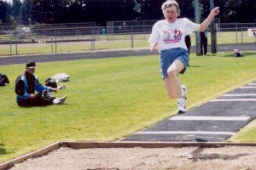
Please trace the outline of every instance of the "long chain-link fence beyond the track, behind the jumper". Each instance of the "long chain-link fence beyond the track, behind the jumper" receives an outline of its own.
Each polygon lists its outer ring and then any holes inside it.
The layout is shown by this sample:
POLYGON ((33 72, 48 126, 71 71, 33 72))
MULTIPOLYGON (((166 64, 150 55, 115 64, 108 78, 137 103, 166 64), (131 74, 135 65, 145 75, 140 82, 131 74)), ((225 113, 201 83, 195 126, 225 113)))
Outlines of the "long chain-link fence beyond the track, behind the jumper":
MULTIPOLYGON (((0 30, 0 55, 53 54, 103 49, 148 48, 148 38, 156 20, 108 22, 107 26, 95 23, 7 26, 0 30)), ((218 23, 217 42, 255 43, 247 30, 256 28, 256 23, 218 23)), ((211 31, 207 30, 208 44, 211 31)), ((195 33, 191 35, 195 45, 195 33)), ((255 48, 256 49, 256 48, 255 48)))

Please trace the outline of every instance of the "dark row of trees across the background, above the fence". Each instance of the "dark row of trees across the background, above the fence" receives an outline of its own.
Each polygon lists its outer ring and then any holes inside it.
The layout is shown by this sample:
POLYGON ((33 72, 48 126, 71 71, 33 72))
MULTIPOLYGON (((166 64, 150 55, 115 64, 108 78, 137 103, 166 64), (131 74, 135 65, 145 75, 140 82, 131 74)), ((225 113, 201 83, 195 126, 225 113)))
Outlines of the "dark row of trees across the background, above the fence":
MULTIPOLYGON (((2 23, 96 22, 105 26, 113 20, 160 20, 161 4, 166 0, 0 0, 2 23), (21 3, 22 2, 22 3, 21 3), (21 8, 21 12, 20 12, 21 8)), ((194 19, 194 1, 178 0, 181 17, 194 19)), ((255 0, 214 0, 221 22, 255 22, 255 0), (246 17, 244 17, 246 16, 246 17)), ((201 18, 210 13, 209 0, 200 0, 201 18)))

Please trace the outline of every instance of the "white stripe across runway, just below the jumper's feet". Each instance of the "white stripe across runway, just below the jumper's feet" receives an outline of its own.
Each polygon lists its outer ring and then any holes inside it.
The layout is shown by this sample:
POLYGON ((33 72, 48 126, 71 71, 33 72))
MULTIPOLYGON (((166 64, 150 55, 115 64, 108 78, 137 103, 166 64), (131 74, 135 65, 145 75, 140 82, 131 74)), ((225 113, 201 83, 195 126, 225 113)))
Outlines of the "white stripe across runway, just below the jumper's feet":
POLYGON ((173 116, 172 121, 247 121, 250 116, 173 116))

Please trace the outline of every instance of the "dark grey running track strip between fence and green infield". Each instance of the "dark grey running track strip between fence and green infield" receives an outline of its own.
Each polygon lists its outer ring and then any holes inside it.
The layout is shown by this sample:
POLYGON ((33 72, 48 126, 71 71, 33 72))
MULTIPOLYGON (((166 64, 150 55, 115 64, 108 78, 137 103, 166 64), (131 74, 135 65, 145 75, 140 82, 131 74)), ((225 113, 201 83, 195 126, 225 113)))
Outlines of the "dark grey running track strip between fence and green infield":
MULTIPOLYGON (((219 44, 218 52, 233 51, 238 48, 241 51, 256 50, 256 43, 243 43, 243 44, 219 44)), ((195 53, 195 46, 190 49, 191 53, 195 53)), ((208 53, 211 53, 211 47, 208 46, 208 53)), ((74 52, 63 54, 32 54, 32 55, 15 55, 15 56, 0 56, 0 65, 15 65, 25 64, 27 61, 35 62, 51 62, 61 60, 74 60, 74 59, 98 59, 98 58, 113 58, 124 56, 143 56, 158 54, 157 51, 151 53, 149 48, 143 49, 123 49, 123 50, 101 50, 90 52, 74 52)))

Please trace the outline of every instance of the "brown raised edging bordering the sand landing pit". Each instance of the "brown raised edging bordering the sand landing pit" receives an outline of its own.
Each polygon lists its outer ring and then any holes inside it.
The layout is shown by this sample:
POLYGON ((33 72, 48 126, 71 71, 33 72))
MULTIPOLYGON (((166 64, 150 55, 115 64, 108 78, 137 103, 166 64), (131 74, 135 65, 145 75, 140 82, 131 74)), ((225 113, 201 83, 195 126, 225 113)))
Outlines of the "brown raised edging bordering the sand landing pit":
POLYGON ((15 164, 21 163, 28 159, 40 157, 49 154, 61 147, 72 149, 89 149, 89 148, 165 148, 165 147, 209 147, 217 148, 224 146, 256 146, 256 143, 228 143, 228 142, 67 142, 61 141, 50 144, 40 150, 35 150, 25 156, 20 156, 11 161, 0 164, 0 170, 6 170, 14 167, 15 164))

